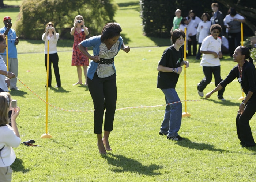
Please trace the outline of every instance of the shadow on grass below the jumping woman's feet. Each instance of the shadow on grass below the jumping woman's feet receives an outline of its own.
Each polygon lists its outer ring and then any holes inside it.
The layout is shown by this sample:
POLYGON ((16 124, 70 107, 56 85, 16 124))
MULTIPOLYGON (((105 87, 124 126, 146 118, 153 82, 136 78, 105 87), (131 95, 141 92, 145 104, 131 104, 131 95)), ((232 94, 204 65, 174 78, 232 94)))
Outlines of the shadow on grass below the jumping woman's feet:
POLYGON ((108 164, 116 166, 110 169, 113 172, 132 172, 149 176, 160 175, 160 173, 156 172, 160 168, 159 165, 151 164, 149 166, 144 166, 142 163, 134 159, 129 159, 123 155, 114 155, 110 153, 107 155, 102 155, 102 157, 107 160, 108 164))

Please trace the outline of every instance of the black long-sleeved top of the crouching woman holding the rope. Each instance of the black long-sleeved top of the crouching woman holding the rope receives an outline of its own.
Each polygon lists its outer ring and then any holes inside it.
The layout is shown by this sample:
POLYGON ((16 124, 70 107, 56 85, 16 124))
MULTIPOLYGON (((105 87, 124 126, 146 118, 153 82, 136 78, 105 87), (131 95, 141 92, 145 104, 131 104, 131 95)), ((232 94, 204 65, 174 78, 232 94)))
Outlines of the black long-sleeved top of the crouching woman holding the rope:
MULTIPOLYGON (((234 68, 229 72, 227 77, 219 84, 222 87, 226 87, 227 84, 232 82, 235 78, 240 78, 240 72, 238 69, 238 64, 234 66, 234 68)), ((256 69, 255 66, 245 61, 243 68, 242 68, 242 78, 241 78, 241 86, 244 90, 244 93, 247 95, 249 91, 253 92, 251 99, 256 99, 256 69)), ((238 80, 239 81, 239 80, 238 80)))

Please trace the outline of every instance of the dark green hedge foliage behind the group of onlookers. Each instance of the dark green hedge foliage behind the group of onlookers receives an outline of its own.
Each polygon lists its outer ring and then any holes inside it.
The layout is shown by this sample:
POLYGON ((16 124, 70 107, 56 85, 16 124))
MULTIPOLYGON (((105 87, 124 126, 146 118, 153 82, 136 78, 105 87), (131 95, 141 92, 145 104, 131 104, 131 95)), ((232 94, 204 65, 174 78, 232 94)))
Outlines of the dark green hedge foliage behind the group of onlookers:
POLYGON ((176 9, 181 9, 182 17, 188 16, 191 9, 198 17, 201 17, 205 12, 212 16, 212 3, 219 4, 219 10, 224 16, 227 15, 227 11, 231 7, 236 8, 238 13, 245 16, 245 24, 247 25, 244 26, 245 35, 253 35, 253 32, 256 31, 253 23, 256 19, 256 4, 251 5, 251 0, 140 0, 140 16, 144 33, 152 37, 170 37, 170 29, 172 28, 176 9))

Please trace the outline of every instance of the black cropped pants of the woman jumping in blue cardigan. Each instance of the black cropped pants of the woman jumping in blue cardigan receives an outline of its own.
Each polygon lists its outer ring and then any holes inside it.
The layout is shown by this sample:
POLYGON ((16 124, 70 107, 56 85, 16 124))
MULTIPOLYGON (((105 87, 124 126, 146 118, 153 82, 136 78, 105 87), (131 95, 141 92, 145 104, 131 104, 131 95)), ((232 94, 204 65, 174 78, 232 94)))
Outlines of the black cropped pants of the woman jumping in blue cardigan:
POLYGON ((92 80, 88 78, 88 88, 94 105, 94 133, 102 133, 105 108, 104 131, 112 131, 117 99, 116 74, 99 78, 95 73, 92 80))

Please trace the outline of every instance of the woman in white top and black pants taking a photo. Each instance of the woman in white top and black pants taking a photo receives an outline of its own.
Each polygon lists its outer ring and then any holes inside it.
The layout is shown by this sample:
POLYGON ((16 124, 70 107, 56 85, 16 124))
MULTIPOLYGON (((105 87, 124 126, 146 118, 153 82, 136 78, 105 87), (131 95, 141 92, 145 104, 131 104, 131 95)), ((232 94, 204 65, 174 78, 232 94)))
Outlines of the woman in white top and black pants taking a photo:
MULTIPOLYGON (((57 85, 55 87, 61 87, 60 84, 60 72, 59 72, 59 56, 57 53, 57 41, 59 39, 59 33, 56 33, 53 23, 46 24, 45 33, 42 36, 42 40, 45 41, 45 67, 47 71, 47 41, 49 40, 49 79, 48 87, 52 87, 52 65, 56 78, 57 85)), ((46 86, 46 85, 45 85, 46 86)))

